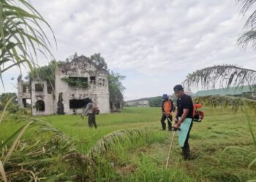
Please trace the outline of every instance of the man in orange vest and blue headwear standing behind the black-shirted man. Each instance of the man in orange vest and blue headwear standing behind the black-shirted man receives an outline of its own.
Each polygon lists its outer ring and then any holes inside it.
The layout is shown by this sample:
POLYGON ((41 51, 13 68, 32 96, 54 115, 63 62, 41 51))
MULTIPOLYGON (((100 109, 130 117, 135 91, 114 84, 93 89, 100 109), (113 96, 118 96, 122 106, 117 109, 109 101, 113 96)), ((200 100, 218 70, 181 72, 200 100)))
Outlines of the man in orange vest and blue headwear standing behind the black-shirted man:
POLYGON ((166 129, 165 119, 167 119, 168 123, 168 130, 170 131, 172 128, 173 117, 172 117, 172 111, 173 111, 173 100, 170 100, 168 98, 167 94, 162 95, 162 118, 161 118, 161 124, 162 124, 162 130, 166 129))

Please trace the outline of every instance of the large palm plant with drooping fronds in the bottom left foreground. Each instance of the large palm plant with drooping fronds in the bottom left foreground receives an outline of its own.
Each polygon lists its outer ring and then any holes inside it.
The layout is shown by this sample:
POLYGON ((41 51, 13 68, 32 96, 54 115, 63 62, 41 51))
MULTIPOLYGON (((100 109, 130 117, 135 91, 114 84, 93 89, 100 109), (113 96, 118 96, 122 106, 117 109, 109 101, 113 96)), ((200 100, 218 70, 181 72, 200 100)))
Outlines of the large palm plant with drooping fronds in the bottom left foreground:
POLYGON ((123 141, 133 143, 136 138, 141 138, 145 134, 136 129, 111 132, 95 143, 86 155, 77 151, 72 140, 48 122, 29 116, 13 115, 13 117, 23 125, 0 144, 0 180, 4 182, 7 179, 12 181, 91 179, 97 171, 97 164, 100 163, 98 157, 113 151, 116 145, 123 141), (27 130, 34 130, 39 137, 22 139, 27 130), (47 135, 43 135, 44 133, 47 135), (62 170, 58 170, 58 167, 54 169, 53 166, 58 163, 67 166, 73 176, 60 173, 62 170), (56 172, 51 172, 52 169, 56 172), (56 175, 56 173, 60 174, 56 175))

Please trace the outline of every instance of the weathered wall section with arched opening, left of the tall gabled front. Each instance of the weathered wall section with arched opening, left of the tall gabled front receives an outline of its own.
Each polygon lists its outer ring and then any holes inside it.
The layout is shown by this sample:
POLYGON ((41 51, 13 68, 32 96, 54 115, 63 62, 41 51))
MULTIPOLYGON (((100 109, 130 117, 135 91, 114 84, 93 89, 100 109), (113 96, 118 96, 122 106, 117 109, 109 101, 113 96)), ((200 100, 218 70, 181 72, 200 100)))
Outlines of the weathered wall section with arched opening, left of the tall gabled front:
POLYGON ((33 116, 46 116, 50 114, 55 114, 56 106, 54 106, 53 94, 48 94, 46 82, 31 82, 31 106, 33 116), (36 91, 36 84, 42 84, 43 91, 36 91), (42 100, 45 103, 45 111, 37 111, 36 103, 38 100, 42 100))

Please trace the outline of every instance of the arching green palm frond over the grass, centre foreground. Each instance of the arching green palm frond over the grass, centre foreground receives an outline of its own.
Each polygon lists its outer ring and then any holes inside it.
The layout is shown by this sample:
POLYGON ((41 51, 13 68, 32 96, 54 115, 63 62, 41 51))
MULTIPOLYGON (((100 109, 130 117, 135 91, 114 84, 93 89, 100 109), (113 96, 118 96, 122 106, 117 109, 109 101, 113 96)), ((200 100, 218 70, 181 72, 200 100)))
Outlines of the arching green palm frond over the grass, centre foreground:
POLYGON ((105 135, 101 138, 89 151, 89 157, 94 158, 98 155, 105 154, 107 151, 113 150, 116 143, 121 141, 132 142, 138 137, 142 137, 143 132, 138 129, 127 129, 127 130, 116 130, 110 132, 110 134, 105 135))

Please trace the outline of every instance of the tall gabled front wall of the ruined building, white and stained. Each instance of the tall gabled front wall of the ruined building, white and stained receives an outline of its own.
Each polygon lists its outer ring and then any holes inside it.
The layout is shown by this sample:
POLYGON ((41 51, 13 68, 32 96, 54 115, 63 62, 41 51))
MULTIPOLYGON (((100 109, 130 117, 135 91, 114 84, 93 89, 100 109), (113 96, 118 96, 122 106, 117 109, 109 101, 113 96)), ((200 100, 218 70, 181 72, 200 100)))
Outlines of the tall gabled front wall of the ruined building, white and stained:
MULTIPOLYGON (((63 93, 63 105, 65 114, 74 114, 74 109, 69 108, 69 100, 81 100, 91 98, 97 104, 100 113, 109 113, 109 90, 108 90, 108 72, 99 71, 94 64, 88 61, 72 61, 69 68, 65 71, 56 70, 56 98, 63 93), (87 78, 89 86, 86 88, 70 87, 69 84, 61 78, 75 76, 87 78), (91 80, 90 76, 94 76, 95 80, 91 80)), ((58 102, 58 100, 56 100, 58 102)), ((75 112, 80 114, 84 108, 75 108, 75 112)))

